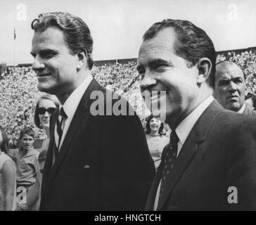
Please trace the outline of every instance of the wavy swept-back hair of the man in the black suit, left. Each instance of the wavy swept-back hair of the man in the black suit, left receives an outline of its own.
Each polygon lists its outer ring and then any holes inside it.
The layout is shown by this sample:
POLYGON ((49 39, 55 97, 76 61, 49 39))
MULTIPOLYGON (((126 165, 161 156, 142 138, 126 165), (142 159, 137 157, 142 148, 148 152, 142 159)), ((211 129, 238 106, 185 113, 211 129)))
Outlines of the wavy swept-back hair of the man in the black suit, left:
POLYGON ((94 41, 89 27, 81 18, 63 12, 41 13, 32 21, 31 27, 34 32, 44 32, 48 27, 57 27, 63 31, 65 42, 71 53, 84 52, 87 56, 88 68, 91 70, 94 65, 92 58, 94 41))

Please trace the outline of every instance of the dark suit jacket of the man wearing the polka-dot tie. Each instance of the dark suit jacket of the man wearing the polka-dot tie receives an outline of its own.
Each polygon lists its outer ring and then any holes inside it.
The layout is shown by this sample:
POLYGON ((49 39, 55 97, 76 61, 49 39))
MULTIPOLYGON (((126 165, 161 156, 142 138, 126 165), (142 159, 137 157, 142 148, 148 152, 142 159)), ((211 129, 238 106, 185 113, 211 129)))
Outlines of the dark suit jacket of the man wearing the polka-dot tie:
MULTIPOLYGON (((153 210, 161 173, 162 163, 146 210, 153 210)), ((256 210, 256 120, 214 101, 188 135, 167 182, 158 210, 256 210), (237 204, 228 202, 231 186, 237 204)))

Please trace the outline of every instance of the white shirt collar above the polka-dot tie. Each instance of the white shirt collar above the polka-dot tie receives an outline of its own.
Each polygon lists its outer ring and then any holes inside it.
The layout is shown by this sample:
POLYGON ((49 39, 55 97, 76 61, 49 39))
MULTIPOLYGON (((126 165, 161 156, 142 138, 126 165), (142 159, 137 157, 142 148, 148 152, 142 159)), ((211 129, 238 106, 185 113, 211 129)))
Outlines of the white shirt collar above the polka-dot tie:
POLYGON ((212 103, 214 98, 209 96, 206 98, 196 109, 194 109, 184 120, 181 121, 179 126, 175 129, 177 136, 179 137, 179 141, 181 141, 181 145, 183 145, 188 137, 193 126, 196 124, 196 121, 203 114, 206 108, 212 103))

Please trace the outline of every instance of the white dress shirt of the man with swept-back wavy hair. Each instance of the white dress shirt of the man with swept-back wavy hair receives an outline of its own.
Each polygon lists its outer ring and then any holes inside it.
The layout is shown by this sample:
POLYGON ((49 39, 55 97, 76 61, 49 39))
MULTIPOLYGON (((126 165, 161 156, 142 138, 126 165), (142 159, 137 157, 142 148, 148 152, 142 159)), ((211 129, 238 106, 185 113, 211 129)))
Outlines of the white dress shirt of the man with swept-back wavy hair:
MULTIPOLYGON (((70 96, 65 101, 65 103, 63 105, 60 105, 60 108, 63 107, 63 110, 68 117, 66 120, 63 121, 63 124, 61 127, 63 130, 63 135, 61 137, 60 146, 59 146, 58 150, 60 150, 60 147, 62 146, 63 140, 65 139, 65 135, 68 132, 68 128, 70 127, 72 119, 75 115, 75 111, 77 110, 77 106, 79 105, 79 102, 81 101, 81 98, 84 95, 84 91, 87 90, 87 87, 91 83, 92 79, 93 79, 93 77, 91 76, 91 74, 88 75, 84 79, 84 81, 81 84, 79 84, 79 86, 77 86, 75 91, 73 91, 72 94, 70 94, 70 96)), ((58 146, 57 126, 55 126, 55 129, 54 129, 54 136, 56 137, 55 138, 56 146, 58 146)))

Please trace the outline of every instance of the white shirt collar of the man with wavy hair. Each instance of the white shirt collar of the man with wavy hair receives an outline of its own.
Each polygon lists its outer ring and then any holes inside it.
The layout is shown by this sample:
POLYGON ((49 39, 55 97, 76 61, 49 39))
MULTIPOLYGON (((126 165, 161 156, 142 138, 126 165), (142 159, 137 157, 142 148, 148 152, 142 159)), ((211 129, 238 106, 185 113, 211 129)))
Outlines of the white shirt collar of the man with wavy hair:
POLYGON ((81 84, 79 84, 79 86, 77 86, 75 91, 73 91, 72 94, 70 94, 65 103, 63 105, 60 105, 60 108, 63 107, 63 110, 65 111, 69 120, 72 120, 72 118, 74 117, 75 111, 77 110, 77 106, 81 101, 81 98, 84 92, 87 90, 87 87, 91 83, 92 79, 93 77, 91 76, 91 74, 89 74, 84 79, 84 81, 81 84))

